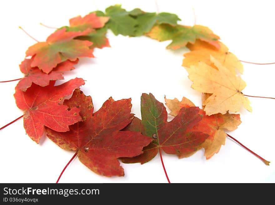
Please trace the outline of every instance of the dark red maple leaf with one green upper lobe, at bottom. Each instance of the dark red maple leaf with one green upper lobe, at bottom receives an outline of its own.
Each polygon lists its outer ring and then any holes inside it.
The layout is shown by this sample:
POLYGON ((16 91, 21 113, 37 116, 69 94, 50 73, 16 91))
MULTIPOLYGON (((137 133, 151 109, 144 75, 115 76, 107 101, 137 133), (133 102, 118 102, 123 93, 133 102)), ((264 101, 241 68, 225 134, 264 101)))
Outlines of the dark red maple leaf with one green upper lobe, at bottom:
POLYGON ((125 129, 140 131, 154 140, 143 149, 144 153, 133 158, 123 158, 123 163, 144 164, 158 154, 158 149, 167 154, 185 154, 193 152, 202 144, 208 135, 202 132, 187 132, 202 117, 198 107, 183 107, 179 114, 167 122, 167 111, 162 103, 150 93, 141 96, 142 120, 135 118, 125 129))

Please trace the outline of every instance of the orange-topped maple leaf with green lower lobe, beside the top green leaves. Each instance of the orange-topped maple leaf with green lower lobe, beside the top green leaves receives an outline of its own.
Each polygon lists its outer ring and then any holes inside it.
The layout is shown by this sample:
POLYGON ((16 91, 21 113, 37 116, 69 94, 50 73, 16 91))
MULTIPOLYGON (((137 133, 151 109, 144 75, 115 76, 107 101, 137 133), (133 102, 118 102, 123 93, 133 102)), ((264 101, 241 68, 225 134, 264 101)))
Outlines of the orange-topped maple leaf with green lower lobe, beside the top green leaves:
MULTIPOLYGON (((105 36, 107 27, 104 27, 108 20, 109 17, 98 17, 96 12, 92 12, 85 17, 78 16, 70 19, 70 26, 65 28, 67 32, 82 32, 82 35, 75 39, 93 42, 90 48, 110 47, 109 41, 105 36)), ((64 27, 60 29, 62 28, 64 27)))

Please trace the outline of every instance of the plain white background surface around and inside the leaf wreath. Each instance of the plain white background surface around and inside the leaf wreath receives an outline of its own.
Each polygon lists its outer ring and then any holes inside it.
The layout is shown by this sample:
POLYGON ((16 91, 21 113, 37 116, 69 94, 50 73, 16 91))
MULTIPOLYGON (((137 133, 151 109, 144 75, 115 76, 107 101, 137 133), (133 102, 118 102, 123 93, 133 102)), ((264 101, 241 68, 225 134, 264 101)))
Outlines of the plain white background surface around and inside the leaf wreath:
MULTIPOLYGON (((212 29, 221 37, 239 59, 254 62, 275 61, 275 30, 273 1, 161 1, 160 12, 177 14, 181 24, 197 24, 212 29)), ((54 30, 40 22, 61 27, 77 15, 104 10, 121 3, 131 10, 140 7, 156 12, 155 1, 4 1, 0 7, 1 19, 1 75, 0 81, 22 77, 18 65, 29 46, 36 43, 25 35, 23 27, 38 41, 45 41, 54 30)), ((114 36, 108 32, 111 48, 95 49, 93 59, 81 59, 65 80, 82 77, 81 88, 91 95, 95 111, 112 96, 115 100, 132 98, 132 112, 140 114, 140 96, 152 92, 164 102, 164 95, 173 99, 183 96, 201 107, 201 93, 192 90, 187 72, 181 66, 187 49, 165 49, 169 41, 158 42, 147 37, 114 36)), ((243 80, 247 82, 244 94, 275 97, 275 65, 244 65, 243 80)), ((0 127, 21 116, 13 98, 17 82, 0 84, 0 127)), ((248 148, 271 161, 266 166, 230 139, 211 159, 206 160, 203 150, 192 157, 177 159, 163 154, 164 163, 172 183, 260 183, 275 182, 275 100, 249 98, 252 113, 242 109, 242 124, 230 133, 248 148)), ((169 110, 168 110, 169 112, 169 110)), ((172 118, 170 117, 169 120, 172 118)), ((33 142, 23 128, 23 120, 0 131, 0 182, 54 183, 74 152, 60 149, 45 136, 39 144, 33 142)), ((125 177, 99 176, 76 158, 63 174, 60 183, 166 183, 159 156, 144 165, 123 164, 125 177)))

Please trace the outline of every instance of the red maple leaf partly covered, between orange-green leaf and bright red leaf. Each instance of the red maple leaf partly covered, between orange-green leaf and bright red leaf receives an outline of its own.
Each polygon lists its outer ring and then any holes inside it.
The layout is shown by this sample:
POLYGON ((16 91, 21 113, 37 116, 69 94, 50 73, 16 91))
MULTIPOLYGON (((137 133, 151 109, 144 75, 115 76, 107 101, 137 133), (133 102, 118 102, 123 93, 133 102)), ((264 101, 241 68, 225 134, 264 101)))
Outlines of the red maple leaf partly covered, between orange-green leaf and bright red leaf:
POLYGON ((32 59, 25 59, 19 65, 20 71, 25 74, 25 77, 18 82, 17 88, 24 92, 32 85, 32 83, 45 87, 49 85, 50 81, 64 79, 62 73, 64 71, 73 70, 73 66, 78 63, 78 60, 64 61, 59 63, 49 74, 47 74, 39 70, 38 67, 31 67, 32 60, 33 57, 32 59))

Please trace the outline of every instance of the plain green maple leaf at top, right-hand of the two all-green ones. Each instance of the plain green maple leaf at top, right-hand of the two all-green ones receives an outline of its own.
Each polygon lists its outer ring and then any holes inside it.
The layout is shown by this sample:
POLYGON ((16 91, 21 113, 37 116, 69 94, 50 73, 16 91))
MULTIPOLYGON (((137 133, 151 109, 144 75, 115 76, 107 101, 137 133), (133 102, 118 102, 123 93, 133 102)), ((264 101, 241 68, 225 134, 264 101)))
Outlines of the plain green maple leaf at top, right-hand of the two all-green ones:
POLYGON ((180 21, 181 19, 175 14, 162 12, 158 14, 143 13, 137 15, 136 20, 138 25, 136 26, 135 36, 142 36, 144 33, 148 33, 156 23, 167 23, 175 26, 177 21, 180 21))

